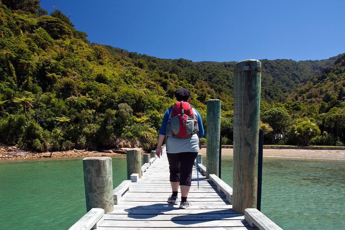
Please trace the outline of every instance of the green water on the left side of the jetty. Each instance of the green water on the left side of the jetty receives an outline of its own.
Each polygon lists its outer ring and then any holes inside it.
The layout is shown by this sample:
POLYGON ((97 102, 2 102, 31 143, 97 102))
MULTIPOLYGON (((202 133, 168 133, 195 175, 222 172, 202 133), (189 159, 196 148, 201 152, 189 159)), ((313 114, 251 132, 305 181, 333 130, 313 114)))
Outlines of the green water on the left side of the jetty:
MULTIPOLYGON (((112 158, 113 186, 127 180, 112 158)), ((86 213, 82 158, 0 163, 0 229, 69 229, 86 213)))

